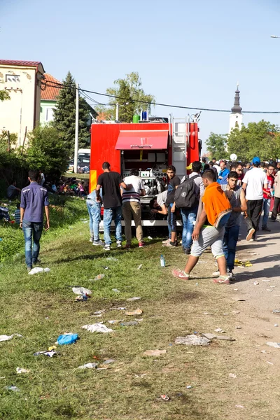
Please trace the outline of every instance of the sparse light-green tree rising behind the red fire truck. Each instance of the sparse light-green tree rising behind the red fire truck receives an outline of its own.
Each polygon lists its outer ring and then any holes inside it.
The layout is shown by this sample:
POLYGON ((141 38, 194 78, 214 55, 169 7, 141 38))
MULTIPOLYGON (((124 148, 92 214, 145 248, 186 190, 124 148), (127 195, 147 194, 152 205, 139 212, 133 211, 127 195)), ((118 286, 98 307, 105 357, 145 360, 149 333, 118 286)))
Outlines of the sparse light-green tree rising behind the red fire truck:
POLYGON ((123 123, 132 123, 134 114, 139 114, 141 110, 151 113, 151 107, 155 102, 155 97, 152 94, 146 94, 142 89, 141 78, 137 71, 132 71, 123 79, 114 81, 116 87, 109 87, 106 93, 115 96, 109 101, 109 108, 105 106, 97 106, 96 109, 103 118, 115 119, 116 118, 116 104, 119 107, 119 120, 123 123), (121 99, 120 99, 121 98, 121 99), (135 102, 142 101, 142 102, 135 102), (127 102, 129 104, 127 104, 127 102))

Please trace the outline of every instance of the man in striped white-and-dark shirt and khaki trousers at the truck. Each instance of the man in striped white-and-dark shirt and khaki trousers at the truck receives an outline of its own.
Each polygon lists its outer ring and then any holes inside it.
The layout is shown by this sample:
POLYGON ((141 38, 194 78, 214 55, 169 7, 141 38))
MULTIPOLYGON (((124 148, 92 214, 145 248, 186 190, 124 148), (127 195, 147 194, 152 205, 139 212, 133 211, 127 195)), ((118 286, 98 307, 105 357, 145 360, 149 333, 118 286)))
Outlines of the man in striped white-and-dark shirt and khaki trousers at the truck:
POLYGON ((139 170, 131 169, 130 176, 126 176, 123 182, 126 183, 126 185, 132 185, 132 188, 129 191, 122 189, 123 218, 125 220, 125 239, 127 241, 125 248, 131 248, 132 246, 132 218, 135 223, 136 237, 138 240, 139 248, 143 248, 145 243, 143 240, 143 229, 141 225, 140 197, 146 195, 146 192, 144 190, 144 183, 139 177, 139 170))

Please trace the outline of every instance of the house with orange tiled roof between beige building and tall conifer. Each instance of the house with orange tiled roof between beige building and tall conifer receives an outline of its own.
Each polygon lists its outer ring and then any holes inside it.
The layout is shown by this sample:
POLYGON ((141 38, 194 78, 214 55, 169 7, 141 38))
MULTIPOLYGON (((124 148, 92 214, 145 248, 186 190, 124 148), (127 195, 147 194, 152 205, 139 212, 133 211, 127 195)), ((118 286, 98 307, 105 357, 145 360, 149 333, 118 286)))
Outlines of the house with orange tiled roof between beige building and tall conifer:
POLYGON ((51 74, 45 73, 41 88, 40 124, 50 123, 54 119, 53 110, 57 105, 59 86, 61 83, 51 74))

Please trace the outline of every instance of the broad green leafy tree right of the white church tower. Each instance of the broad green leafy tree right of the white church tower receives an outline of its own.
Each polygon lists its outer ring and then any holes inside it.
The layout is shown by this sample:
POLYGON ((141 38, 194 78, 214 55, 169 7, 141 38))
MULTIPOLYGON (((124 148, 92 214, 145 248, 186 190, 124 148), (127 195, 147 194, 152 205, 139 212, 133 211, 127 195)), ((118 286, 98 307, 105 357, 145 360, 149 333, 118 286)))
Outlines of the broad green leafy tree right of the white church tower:
POLYGON ((260 160, 275 159, 280 156, 279 127, 261 120, 258 123, 242 125, 228 136, 228 152, 236 153, 238 160, 252 160, 258 156, 260 160))

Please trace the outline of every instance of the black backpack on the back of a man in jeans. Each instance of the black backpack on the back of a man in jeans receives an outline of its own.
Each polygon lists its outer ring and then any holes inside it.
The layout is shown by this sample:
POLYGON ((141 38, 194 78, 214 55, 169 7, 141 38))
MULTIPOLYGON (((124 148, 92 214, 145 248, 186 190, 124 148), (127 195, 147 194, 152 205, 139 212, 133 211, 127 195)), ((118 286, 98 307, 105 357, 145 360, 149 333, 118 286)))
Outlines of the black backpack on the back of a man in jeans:
POLYGON ((197 194, 197 186, 195 185, 195 178, 200 175, 195 175, 192 178, 186 178, 175 191, 175 204, 179 209, 191 209, 199 202, 199 194, 197 194))

